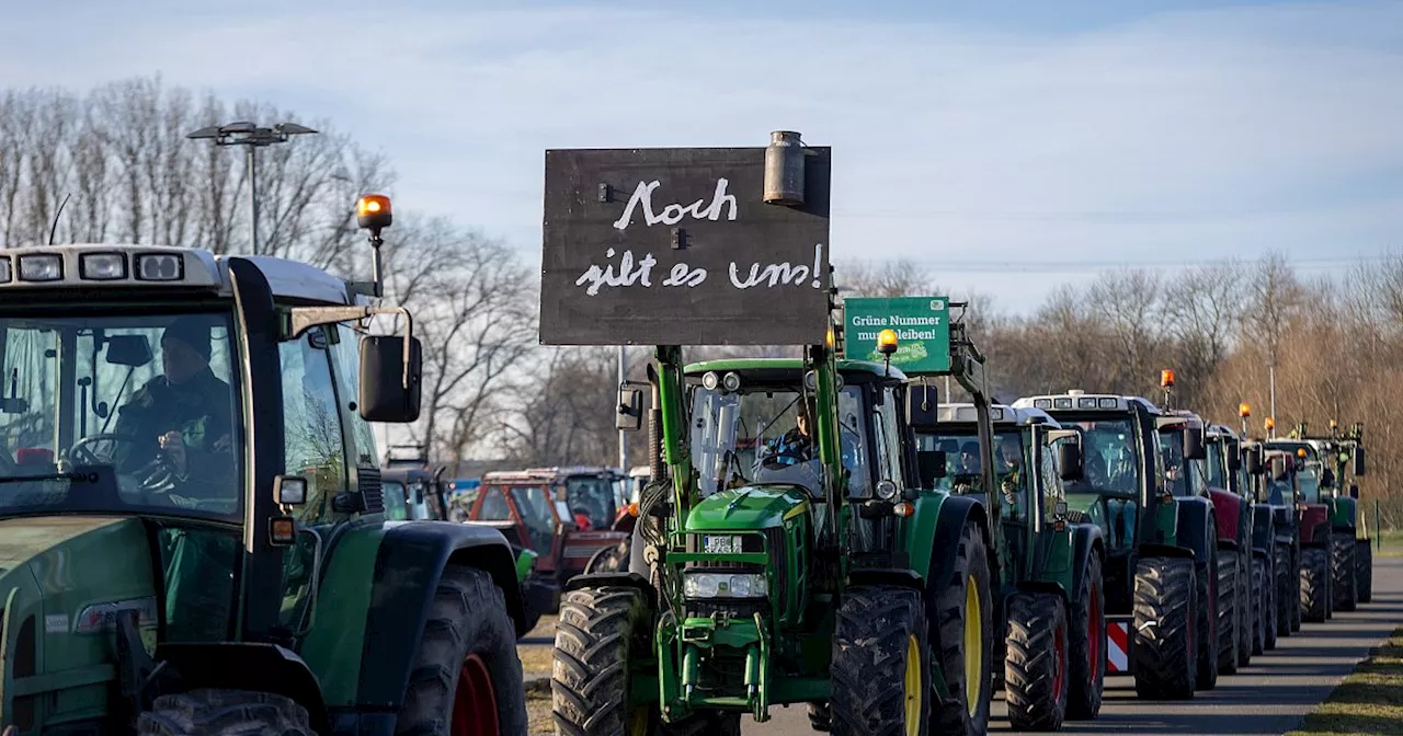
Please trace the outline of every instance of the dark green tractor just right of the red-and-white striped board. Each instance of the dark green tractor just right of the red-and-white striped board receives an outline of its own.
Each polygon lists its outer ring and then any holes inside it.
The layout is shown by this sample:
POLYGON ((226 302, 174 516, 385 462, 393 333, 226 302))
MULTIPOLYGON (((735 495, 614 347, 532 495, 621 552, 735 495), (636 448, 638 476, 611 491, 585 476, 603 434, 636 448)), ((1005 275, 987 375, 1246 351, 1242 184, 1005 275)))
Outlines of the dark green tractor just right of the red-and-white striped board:
POLYGON ((1177 484, 1204 460, 1202 423, 1142 397, 1024 397, 1082 439, 1083 477, 1066 486, 1069 520, 1106 540, 1107 673, 1132 674, 1141 698, 1188 700, 1218 677, 1212 503, 1177 484), (1177 470, 1170 470, 1177 468, 1177 470))

